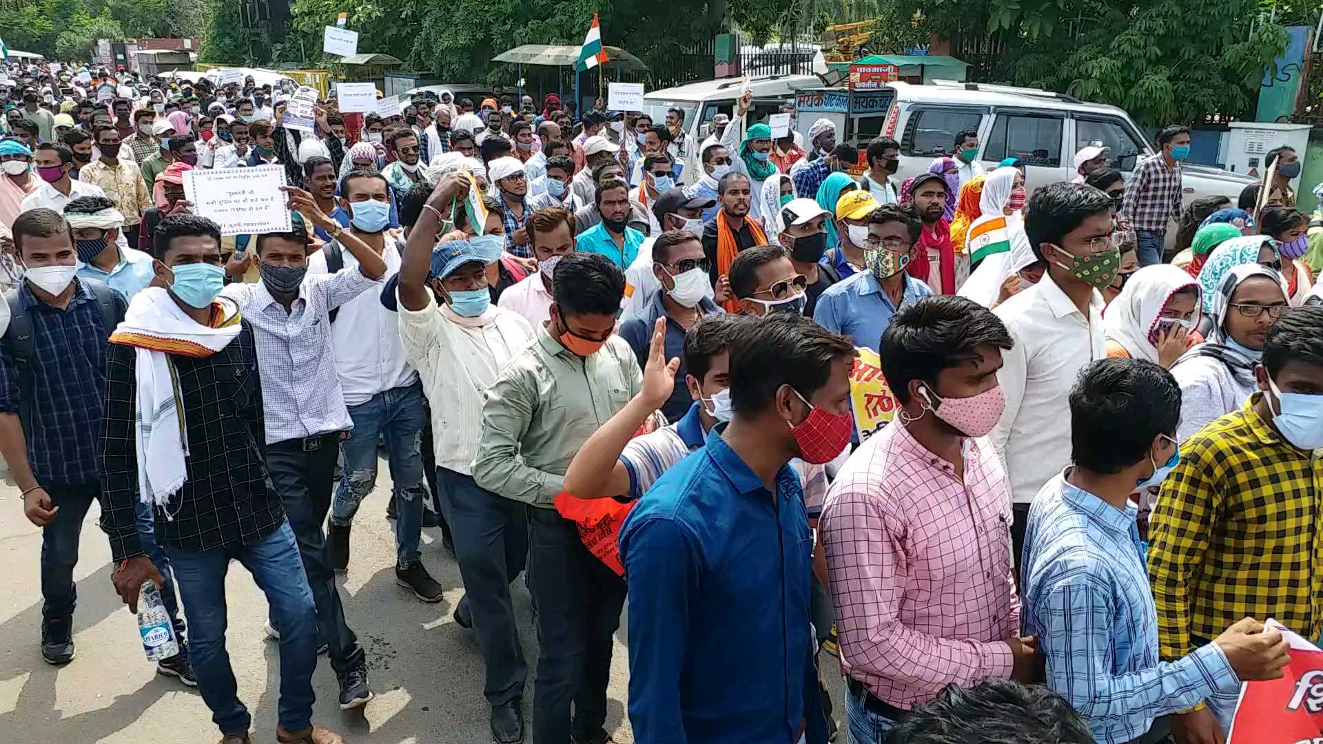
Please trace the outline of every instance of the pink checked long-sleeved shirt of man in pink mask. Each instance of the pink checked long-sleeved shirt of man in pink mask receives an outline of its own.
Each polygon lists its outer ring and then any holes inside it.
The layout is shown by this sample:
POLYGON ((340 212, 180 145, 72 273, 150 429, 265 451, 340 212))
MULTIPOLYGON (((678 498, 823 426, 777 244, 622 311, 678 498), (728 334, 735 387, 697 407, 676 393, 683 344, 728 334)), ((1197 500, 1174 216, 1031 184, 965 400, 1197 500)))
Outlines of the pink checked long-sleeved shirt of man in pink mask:
POLYGON ((845 674, 902 710, 1011 676, 1009 503, 987 438, 966 440, 963 483, 898 420, 849 457, 818 527, 845 674))

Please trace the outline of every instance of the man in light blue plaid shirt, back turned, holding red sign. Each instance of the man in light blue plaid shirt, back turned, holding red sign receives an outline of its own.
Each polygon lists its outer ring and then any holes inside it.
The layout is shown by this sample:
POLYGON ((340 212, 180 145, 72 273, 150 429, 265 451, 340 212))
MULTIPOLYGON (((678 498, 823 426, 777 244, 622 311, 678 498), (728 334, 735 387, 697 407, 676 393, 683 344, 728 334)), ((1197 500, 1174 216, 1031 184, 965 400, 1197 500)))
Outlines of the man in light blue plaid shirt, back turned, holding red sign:
POLYGON ((1159 716, 1278 676, 1290 662, 1286 641, 1252 618, 1158 661, 1132 499, 1146 500, 1180 461, 1171 375, 1146 360, 1094 361, 1070 391, 1070 420, 1072 465, 1035 496, 1025 537, 1023 621, 1040 639, 1046 686, 1085 712, 1098 741, 1132 741, 1159 716))

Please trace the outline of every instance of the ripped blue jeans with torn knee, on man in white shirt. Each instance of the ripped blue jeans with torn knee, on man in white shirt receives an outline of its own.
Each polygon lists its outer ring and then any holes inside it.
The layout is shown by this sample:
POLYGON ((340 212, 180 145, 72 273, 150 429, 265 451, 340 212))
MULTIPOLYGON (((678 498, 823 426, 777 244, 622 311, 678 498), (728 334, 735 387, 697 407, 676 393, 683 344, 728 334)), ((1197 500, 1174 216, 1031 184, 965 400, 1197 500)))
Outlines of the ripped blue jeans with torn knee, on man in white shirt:
POLYGON ((427 413, 422 384, 380 392, 349 406, 353 430, 340 442, 344 474, 335 490, 331 524, 349 527, 359 504, 377 485, 377 436, 386 436, 386 459, 396 499, 396 564, 407 568, 421 560, 422 502, 427 496, 422 471, 422 432, 427 413))

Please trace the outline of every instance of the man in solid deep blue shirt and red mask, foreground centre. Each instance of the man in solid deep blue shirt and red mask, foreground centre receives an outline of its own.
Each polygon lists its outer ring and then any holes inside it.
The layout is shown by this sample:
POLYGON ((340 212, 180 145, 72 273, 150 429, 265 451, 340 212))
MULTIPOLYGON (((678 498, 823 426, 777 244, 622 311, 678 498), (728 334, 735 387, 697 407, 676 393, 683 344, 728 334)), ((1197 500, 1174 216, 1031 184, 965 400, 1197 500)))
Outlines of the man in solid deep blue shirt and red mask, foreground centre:
POLYGON ((807 318, 738 324, 730 422, 626 518, 630 721, 640 741, 827 740, 808 515, 790 461, 823 465, 848 446, 853 357, 848 339, 807 318), (741 704, 750 684, 767 704, 741 704))

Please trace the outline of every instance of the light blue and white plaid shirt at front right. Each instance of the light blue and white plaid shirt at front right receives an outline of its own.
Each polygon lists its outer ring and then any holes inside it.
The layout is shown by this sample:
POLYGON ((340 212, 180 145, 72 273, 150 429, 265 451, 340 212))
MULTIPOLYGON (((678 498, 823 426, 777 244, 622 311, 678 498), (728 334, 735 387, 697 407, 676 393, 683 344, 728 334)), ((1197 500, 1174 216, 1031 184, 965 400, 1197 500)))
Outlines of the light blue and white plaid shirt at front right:
POLYGON ((1126 744, 1158 716, 1240 690, 1215 643, 1174 663, 1158 661, 1136 512, 1060 474, 1033 498, 1024 535, 1024 633, 1039 637, 1046 686, 1088 719, 1101 744, 1126 744))

